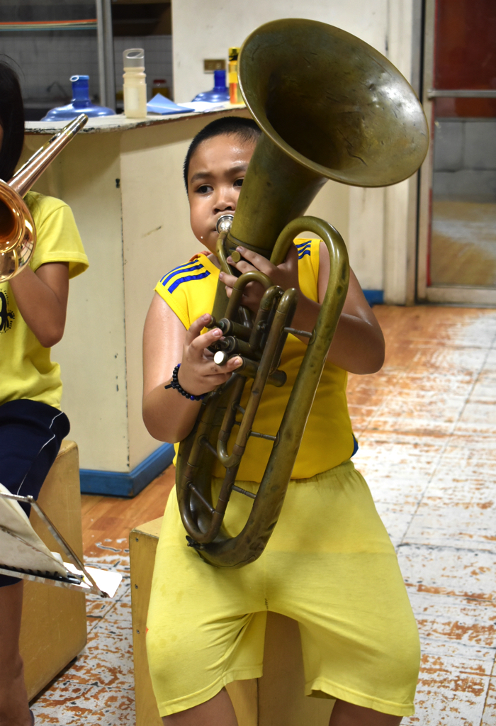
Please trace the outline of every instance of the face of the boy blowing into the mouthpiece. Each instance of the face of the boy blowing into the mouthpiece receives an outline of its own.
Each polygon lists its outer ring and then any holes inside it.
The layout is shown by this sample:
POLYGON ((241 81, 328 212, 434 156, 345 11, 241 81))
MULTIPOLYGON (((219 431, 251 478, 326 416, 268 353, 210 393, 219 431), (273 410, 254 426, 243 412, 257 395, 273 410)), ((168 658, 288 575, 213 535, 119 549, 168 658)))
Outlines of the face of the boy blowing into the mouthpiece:
POLYGON ((255 144, 238 136, 214 136, 199 145, 191 157, 188 196, 191 229, 199 242, 215 253, 215 224, 234 213, 239 189, 247 173, 255 144))

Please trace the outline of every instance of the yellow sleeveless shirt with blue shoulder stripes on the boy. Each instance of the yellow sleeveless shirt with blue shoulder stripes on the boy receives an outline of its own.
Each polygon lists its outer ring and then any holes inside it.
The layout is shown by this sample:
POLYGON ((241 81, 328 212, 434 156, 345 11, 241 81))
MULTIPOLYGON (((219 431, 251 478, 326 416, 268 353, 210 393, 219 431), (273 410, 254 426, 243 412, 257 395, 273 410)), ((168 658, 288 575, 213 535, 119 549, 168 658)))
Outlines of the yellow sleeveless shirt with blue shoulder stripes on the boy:
MULTIPOLYGON (((298 250, 299 286, 302 294, 318 301, 320 240, 297 239, 294 242, 298 250)), ((168 303, 187 329, 201 315, 212 311, 218 276, 218 268, 203 253, 164 275, 157 283, 155 291, 168 303)), ((287 381, 281 388, 265 388, 253 423, 254 431, 276 435, 306 348, 294 335, 288 335, 279 366, 286 372, 287 381)), ((294 463, 292 479, 309 478, 332 469, 355 453, 357 443, 348 414, 346 384, 347 372, 326 362, 294 463)), ((241 399, 242 407, 246 404, 250 387, 251 380, 248 380, 241 399)), ((236 433, 237 427, 229 441, 229 451, 236 439, 236 433)), ((271 441, 249 439, 237 478, 240 481, 262 481, 271 448, 271 441)), ((214 476, 223 477, 224 471, 218 464, 214 476)))

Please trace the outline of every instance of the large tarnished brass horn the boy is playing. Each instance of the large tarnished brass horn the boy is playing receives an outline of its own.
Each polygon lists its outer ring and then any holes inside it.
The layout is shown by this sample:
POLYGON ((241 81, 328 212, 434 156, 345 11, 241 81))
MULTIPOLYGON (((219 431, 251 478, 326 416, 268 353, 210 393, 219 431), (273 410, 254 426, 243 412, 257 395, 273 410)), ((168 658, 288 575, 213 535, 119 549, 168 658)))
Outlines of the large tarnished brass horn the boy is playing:
POLYGON ((190 546, 219 567, 257 559, 276 525, 347 294, 349 265, 341 235, 325 221, 301 215, 327 179, 360 187, 407 179, 421 165, 429 143, 421 104, 405 78, 371 46, 331 25, 276 20, 261 26, 241 48, 239 84, 263 134, 232 226, 220 219, 220 266, 231 272, 226 257, 239 244, 281 264, 294 238, 312 232, 328 248, 331 272, 276 436, 252 431, 252 422, 265 383, 284 383, 277 367, 286 336, 305 335, 291 327, 296 290, 284 292, 260 272, 241 274, 229 301, 225 286, 218 285, 212 325, 223 330, 225 340, 215 344, 214 359, 222 364, 239 355, 243 364, 204 399, 193 431, 181 441, 176 490, 190 546), (239 306, 244 286, 252 280, 266 288, 255 319, 239 306), (253 383, 243 410, 239 401, 248 379, 253 383), (236 420, 239 413, 241 421, 236 420), (229 453, 234 425, 239 429, 229 453), (249 436, 273 440, 256 496, 235 484, 249 436), (218 501, 212 502, 215 457, 226 467, 226 476, 218 501), (255 501, 244 529, 229 537, 223 516, 233 491, 255 501))

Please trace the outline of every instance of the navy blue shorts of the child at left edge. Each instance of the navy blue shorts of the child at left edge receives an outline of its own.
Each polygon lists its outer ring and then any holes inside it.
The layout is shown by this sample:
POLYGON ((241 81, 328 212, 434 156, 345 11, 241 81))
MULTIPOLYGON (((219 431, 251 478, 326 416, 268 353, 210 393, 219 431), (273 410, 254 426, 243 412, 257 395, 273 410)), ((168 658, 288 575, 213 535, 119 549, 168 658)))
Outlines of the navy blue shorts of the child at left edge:
MULTIPOLYGON (((0 406, 0 483, 12 494, 38 499, 41 486, 57 458, 69 419, 59 409, 20 399, 0 406)), ((29 505, 21 507, 29 515, 29 505)), ((0 587, 19 582, 0 574, 0 587)))

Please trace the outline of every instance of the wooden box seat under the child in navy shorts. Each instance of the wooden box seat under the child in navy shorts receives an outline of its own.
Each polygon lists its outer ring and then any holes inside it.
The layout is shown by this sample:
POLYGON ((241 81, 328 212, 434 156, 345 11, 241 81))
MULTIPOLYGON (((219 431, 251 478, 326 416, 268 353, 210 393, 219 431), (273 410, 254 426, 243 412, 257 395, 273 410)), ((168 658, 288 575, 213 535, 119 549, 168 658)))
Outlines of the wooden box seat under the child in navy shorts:
MULTIPOLYGON (((80 558, 83 557, 78 446, 62 441, 38 502, 80 558)), ((35 512, 33 529, 53 552, 60 548, 35 512)), ((34 698, 86 645, 86 604, 83 592, 64 587, 24 583, 20 653, 28 698, 34 698)))

